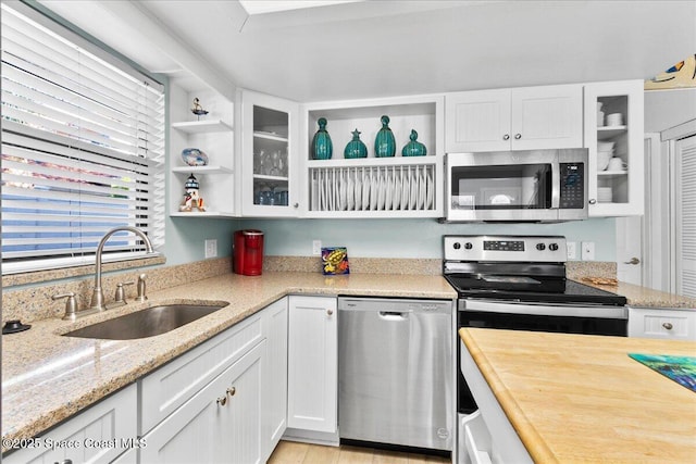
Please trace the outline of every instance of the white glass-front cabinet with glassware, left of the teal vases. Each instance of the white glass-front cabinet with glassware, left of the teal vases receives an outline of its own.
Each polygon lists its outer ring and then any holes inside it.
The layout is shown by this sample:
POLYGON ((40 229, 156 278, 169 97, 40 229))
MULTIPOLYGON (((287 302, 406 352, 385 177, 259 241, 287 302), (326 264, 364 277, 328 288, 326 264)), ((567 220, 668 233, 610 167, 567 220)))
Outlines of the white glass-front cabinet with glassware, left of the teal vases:
POLYGON ((297 216, 298 104, 241 91, 241 214, 297 216))

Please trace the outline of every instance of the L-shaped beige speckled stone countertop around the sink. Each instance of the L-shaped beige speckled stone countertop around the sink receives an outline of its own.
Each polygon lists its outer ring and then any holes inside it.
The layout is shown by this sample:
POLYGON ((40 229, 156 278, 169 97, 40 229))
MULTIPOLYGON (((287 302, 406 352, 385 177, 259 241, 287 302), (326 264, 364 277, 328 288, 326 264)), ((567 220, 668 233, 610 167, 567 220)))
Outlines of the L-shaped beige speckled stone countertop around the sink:
POLYGON ((298 293, 457 298, 442 276, 225 274, 151 292, 146 303, 129 303, 75 323, 58 318, 34 322, 27 331, 2 336, 2 438, 35 437, 273 301, 298 293), (217 301, 229 305, 156 337, 113 341, 61 336, 154 304, 217 301))

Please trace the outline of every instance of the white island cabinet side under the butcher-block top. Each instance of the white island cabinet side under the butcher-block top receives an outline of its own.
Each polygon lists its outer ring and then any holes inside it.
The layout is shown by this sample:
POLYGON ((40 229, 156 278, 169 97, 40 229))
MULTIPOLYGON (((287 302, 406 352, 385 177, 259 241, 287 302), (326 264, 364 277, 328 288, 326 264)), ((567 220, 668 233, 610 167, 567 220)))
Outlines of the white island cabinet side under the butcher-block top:
POLYGON ((460 442, 463 434, 464 448, 459 449, 459 462, 485 463, 489 460, 494 463, 532 464, 526 448, 463 342, 460 343, 460 354, 461 372, 478 405, 480 417, 472 414, 470 421, 460 421, 460 442))

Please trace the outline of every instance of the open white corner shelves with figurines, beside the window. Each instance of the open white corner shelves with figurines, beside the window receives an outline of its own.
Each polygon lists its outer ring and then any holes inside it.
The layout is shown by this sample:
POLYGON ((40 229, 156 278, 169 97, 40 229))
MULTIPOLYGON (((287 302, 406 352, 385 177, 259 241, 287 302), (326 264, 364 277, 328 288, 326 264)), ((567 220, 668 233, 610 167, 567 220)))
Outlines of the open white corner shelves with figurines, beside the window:
POLYGON ((235 158, 234 103, 211 90, 187 93, 172 86, 170 91, 170 215, 181 217, 234 216, 235 158), (208 114, 195 115, 194 98, 208 114), (190 166, 182 158, 184 149, 198 149, 208 164, 190 166), (182 211, 189 176, 198 183, 203 210, 182 211))

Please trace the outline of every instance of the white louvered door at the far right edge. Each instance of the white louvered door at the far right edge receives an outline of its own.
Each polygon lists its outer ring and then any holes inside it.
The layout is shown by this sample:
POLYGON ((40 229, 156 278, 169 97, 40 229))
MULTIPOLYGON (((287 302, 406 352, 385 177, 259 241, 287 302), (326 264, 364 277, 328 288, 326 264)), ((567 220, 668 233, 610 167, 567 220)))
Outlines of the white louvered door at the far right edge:
POLYGON ((696 136, 674 148, 676 292, 696 297, 696 136))

